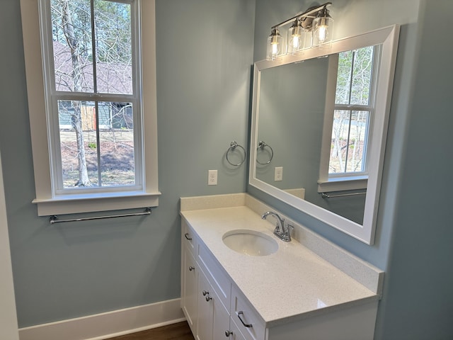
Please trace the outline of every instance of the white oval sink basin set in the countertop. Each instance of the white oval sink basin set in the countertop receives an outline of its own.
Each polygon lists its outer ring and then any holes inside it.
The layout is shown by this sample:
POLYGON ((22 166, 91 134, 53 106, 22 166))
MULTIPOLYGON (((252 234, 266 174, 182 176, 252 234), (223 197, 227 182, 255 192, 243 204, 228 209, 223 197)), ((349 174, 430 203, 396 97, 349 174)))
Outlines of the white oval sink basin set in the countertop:
POLYGON ((229 249, 251 256, 270 255, 278 250, 275 239, 255 230, 231 230, 224 234, 222 240, 229 249))

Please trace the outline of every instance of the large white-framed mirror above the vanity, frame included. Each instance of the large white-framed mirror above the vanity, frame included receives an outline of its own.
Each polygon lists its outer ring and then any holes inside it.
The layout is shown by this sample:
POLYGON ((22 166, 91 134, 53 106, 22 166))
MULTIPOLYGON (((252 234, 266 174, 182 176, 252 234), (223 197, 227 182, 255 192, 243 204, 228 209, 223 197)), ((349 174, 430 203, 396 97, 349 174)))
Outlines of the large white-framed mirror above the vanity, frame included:
POLYGON ((367 244, 397 40, 391 26, 255 65, 250 184, 367 244))

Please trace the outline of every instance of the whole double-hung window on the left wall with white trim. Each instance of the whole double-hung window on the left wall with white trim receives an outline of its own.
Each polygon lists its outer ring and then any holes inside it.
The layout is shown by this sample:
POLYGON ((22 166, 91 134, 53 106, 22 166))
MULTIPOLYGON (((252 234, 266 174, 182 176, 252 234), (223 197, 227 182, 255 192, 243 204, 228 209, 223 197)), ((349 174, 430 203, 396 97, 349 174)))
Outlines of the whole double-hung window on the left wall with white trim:
POLYGON ((38 215, 156 206, 154 1, 21 11, 38 215))

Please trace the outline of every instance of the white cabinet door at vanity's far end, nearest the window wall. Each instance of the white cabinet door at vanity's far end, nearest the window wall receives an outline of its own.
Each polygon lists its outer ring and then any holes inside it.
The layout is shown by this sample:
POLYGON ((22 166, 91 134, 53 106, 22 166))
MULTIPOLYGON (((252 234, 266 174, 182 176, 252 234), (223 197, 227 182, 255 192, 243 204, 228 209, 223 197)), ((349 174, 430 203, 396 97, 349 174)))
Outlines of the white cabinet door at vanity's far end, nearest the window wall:
POLYGON ((183 246, 183 266, 181 268, 181 307, 192 329, 197 333, 197 263, 190 251, 183 246))

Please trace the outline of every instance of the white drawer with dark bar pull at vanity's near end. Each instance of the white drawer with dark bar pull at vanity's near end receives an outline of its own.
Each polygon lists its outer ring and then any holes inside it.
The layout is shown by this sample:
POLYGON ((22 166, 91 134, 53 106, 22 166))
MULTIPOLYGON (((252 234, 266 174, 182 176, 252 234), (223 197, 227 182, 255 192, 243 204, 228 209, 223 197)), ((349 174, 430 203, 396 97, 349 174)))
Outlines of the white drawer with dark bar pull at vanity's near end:
POLYGON ((264 340, 265 324, 236 286, 231 288, 231 319, 246 340, 264 340))

